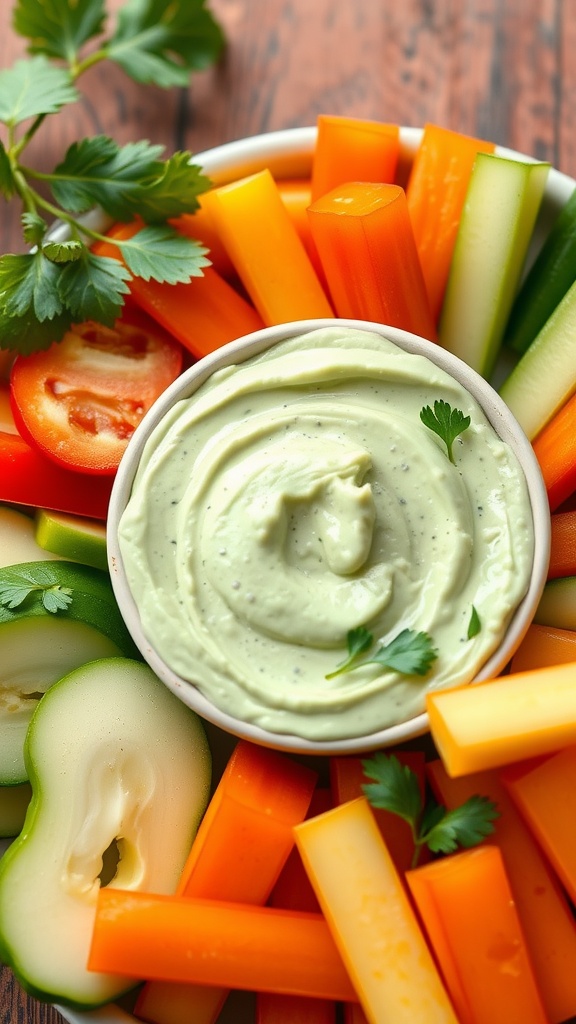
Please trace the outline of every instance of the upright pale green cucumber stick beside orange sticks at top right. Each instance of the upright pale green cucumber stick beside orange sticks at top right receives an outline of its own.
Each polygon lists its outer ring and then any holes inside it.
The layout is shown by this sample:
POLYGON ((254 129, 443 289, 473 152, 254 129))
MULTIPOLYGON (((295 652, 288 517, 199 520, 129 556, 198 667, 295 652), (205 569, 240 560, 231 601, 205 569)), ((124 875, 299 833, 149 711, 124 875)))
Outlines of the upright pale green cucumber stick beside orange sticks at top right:
POLYGON ((439 341, 484 377, 496 362, 549 164, 477 156, 439 326, 439 341))

